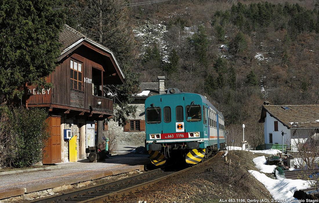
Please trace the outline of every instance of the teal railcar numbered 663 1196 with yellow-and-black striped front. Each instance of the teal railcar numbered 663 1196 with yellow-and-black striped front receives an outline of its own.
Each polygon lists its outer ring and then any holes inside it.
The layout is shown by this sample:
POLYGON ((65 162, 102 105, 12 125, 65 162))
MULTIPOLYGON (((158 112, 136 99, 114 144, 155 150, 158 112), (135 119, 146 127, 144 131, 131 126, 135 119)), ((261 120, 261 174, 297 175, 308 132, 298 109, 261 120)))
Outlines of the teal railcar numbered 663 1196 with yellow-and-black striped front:
POLYGON ((224 117, 200 94, 168 88, 145 100, 145 146, 156 166, 182 156, 197 164, 226 143, 224 117))

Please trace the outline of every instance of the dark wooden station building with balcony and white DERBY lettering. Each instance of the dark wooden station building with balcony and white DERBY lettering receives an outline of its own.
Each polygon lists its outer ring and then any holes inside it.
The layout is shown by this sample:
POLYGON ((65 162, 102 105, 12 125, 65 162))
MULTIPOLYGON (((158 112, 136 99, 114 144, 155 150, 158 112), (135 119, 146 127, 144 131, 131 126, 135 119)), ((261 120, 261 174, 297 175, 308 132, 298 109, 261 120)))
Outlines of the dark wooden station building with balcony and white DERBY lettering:
POLYGON ((48 157, 42 161, 47 164, 69 161, 65 132, 77 135, 78 160, 86 158, 85 148, 95 146, 94 121, 113 115, 113 100, 101 87, 125 81, 114 54, 106 47, 68 25, 64 25, 59 40, 63 44, 59 65, 48 76, 54 88, 37 92, 27 86, 27 107, 49 110, 51 138, 46 148, 48 157))

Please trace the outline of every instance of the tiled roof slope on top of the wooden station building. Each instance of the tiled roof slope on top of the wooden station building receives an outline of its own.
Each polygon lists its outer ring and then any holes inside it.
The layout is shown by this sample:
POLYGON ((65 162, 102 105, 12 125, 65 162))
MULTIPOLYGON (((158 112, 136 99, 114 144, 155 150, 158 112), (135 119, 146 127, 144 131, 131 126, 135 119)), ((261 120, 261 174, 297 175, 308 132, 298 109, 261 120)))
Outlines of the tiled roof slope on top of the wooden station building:
POLYGON ((63 44, 63 48, 61 48, 61 50, 68 48, 81 38, 86 38, 86 36, 72 27, 64 25, 63 31, 59 35, 59 41, 63 44))

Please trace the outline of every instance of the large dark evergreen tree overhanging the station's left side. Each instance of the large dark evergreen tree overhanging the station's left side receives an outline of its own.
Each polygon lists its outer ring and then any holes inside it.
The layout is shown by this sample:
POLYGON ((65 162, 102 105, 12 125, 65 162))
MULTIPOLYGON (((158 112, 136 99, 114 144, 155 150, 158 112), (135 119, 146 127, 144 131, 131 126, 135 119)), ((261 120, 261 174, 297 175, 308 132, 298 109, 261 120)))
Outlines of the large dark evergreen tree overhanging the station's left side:
POLYGON ((60 55, 64 18, 55 1, 3 0, 0 3, 0 103, 21 98, 20 87, 52 87, 46 78, 60 55))

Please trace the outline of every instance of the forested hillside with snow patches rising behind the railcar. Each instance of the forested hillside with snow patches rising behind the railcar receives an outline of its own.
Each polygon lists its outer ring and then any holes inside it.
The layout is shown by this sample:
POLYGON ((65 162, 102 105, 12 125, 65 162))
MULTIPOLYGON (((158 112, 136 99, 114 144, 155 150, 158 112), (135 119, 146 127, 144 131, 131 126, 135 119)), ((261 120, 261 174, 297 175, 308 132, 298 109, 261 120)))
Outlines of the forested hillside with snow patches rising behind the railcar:
POLYGON ((142 82, 165 75, 167 87, 206 95, 225 116, 229 138, 240 144, 245 124, 256 147, 263 143, 263 101, 319 102, 315 3, 175 0, 129 7, 133 30, 151 27, 156 36, 150 41, 135 32, 134 71, 142 82))

